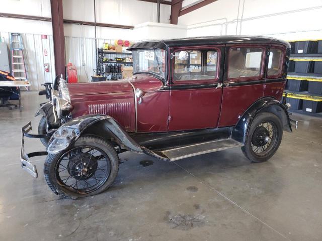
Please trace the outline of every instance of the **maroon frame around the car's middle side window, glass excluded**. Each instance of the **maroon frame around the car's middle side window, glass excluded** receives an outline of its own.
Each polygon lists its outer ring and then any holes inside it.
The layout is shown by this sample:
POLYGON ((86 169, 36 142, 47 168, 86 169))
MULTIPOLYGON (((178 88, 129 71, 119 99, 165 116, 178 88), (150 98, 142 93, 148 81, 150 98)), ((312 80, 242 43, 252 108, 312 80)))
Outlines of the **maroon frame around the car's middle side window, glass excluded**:
POLYGON ((227 80, 234 82, 234 81, 245 81, 245 80, 260 80, 263 79, 264 77, 264 69, 265 69, 265 59, 266 59, 266 45, 254 45, 254 44, 238 44, 238 45, 229 45, 228 47, 228 54, 227 54, 227 62, 226 62, 226 66, 227 66, 227 72, 226 72, 226 76, 227 76, 227 80), (237 78, 229 78, 229 55, 230 55, 230 50, 231 49, 236 49, 236 48, 258 48, 258 49, 262 49, 263 50, 263 54, 262 54, 262 59, 261 59, 261 72, 259 76, 251 76, 251 77, 237 77, 237 78))

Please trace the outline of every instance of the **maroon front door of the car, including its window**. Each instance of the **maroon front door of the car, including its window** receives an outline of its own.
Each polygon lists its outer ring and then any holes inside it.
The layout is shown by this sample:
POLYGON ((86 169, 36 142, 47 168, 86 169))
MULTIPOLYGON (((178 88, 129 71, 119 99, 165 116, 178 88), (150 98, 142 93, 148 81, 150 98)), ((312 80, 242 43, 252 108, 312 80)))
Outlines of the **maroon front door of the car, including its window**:
POLYGON ((222 51, 223 46, 172 49, 168 131, 217 127, 222 51))

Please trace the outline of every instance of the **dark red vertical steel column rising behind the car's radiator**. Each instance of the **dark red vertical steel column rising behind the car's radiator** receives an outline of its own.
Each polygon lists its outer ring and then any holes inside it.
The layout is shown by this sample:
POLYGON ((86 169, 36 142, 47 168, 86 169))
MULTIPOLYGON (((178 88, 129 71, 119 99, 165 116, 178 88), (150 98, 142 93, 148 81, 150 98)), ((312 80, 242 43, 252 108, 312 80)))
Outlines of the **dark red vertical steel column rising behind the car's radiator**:
POLYGON ((65 78, 65 41, 62 0, 50 0, 56 75, 65 78))

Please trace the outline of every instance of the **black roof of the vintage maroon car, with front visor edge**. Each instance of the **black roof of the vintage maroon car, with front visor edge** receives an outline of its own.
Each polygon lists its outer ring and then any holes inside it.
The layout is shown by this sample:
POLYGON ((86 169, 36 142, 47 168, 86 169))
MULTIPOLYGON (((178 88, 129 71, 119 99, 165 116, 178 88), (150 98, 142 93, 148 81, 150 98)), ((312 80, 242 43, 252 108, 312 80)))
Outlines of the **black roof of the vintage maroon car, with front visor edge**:
POLYGON ((211 45, 211 44, 280 44, 290 48, 290 44, 286 41, 259 36, 212 36, 212 37, 195 37, 183 39, 169 39, 169 40, 150 40, 134 43, 127 50, 135 49, 166 49, 169 47, 181 47, 190 45, 211 45))

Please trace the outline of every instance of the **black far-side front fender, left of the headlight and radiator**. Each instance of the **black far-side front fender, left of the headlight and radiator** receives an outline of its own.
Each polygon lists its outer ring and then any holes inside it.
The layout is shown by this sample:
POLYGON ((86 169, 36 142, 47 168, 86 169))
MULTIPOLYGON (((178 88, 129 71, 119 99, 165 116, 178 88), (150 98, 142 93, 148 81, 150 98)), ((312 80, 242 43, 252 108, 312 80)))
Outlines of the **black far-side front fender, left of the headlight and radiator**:
POLYGON ((57 116, 56 111, 54 110, 54 105, 52 101, 48 101, 47 103, 41 105, 35 113, 35 117, 39 114, 42 114, 47 119, 46 132, 48 132, 48 129, 56 129, 60 126, 61 122, 57 116))

